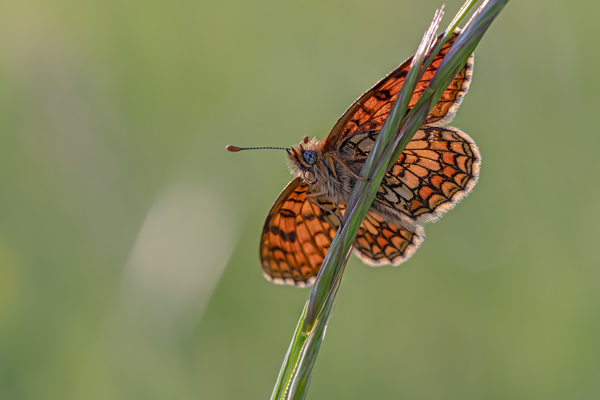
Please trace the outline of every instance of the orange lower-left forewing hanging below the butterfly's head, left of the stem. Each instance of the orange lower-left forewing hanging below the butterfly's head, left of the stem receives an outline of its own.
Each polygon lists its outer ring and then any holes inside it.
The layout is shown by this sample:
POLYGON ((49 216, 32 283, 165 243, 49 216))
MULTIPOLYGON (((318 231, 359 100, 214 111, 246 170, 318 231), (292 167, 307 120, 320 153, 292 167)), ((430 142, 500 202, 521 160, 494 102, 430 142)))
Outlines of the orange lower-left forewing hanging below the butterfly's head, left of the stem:
MULTIPOLYGON (((339 222, 306 199, 307 185, 293 179, 281 192, 263 226, 260 261, 265 278, 276 284, 313 284, 339 222)), ((334 204, 319 201, 334 209, 334 204)))

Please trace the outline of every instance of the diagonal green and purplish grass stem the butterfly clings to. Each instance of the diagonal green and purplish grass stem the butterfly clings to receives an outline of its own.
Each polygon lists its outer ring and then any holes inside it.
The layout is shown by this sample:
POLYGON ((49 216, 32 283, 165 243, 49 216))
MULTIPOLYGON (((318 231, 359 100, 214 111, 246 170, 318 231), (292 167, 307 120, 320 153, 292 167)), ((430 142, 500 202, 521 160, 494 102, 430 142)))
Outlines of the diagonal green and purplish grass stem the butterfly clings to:
POLYGON ((506 2, 508 0, 485 1, 479 7, 467 22, 463 32, 452 44, 448 54, 443 58, 442 64, 440 64, 417 104, 406 114, 416 83, 419 82, 423 72, 433 60, 433 56, 427 57, 428 50, 433 48, 432 55, 439 52, 443 42, 448 39, 458 22, 472 8, 473 1, 467 1, 463 5, 446 29, 442 42, 433 47, 436 40, 436 30, 443 14, 442 10, 436 11, 433 22, 428 31, 425 32, 415 53, 409 73, 404 80, 388 119, 383 124, 376 143, 367 161, 365 161, 361 175, 368 176, 369 181, 356 182, 344 213, 343 225, 338 229, 331 242, 294 332, 292 343, 275 384, 272 399, 305 398, 314 362, 334 309, 335 294, 340 286, 343 270, 358 233, 358 228, 367 215, 383 176, 398 159, 406 144, 431 113, 442 93, 464 66, 467 58, 481 40, 482 35, 506 2))

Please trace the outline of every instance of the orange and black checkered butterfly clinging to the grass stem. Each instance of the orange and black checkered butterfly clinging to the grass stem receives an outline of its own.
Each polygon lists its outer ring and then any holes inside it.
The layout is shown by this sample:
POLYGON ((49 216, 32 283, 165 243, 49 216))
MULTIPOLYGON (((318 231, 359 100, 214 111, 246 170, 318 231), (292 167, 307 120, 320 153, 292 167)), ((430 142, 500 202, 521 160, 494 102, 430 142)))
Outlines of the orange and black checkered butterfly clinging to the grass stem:
MULTIPOLYGON (((453 32, 425 71, 409 109, 427 88, 460 33, 453 32)), ((437 40, 440 40, 440 37, 437 40)), ((412 58, 365 92, 338 119, 325 140, 305 137, 286 149, 296 177, 271 207, 260 237, 263 275, 275 284, 314 283, 340 216, 377 134, 388 117, 412 58)), ((398 266, 415 254, 423 224, 439 219, 475 186, 481 155, 463 131, 443 127, 469 89, 473 55, 443 92, 431 114, 383 178, 356 236, 353 252, 370 266, 398 266)), ((230 151, 244 148, 227 146, 230 151)))

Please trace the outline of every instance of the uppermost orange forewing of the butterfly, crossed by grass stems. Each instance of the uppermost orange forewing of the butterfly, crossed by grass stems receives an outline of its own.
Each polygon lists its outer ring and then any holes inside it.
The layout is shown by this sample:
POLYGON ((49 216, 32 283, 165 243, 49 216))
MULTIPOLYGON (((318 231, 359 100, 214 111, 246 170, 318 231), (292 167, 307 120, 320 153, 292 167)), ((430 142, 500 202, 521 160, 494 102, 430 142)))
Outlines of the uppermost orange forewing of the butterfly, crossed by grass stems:
MULTIPOLYGON (((457 38, 460 29, 454 31, 454 34, 443 45, 442 50, 434 57, 430 67, 425 71, 421 81, 416 86, 415 92, 409 101, 409 110, 416 104, 421 97, 422 92, 427 88, 431 78, 436 73, 442 59, 448 53, 450 46, 457 38)), ((438 40, 442 35, 438 37, 438 40)), ((347 137, 353 134, 380 130, 383 122, 388 118, 392 104, 396 99, 400 88, 404 83, 404 78, 409 71, 412 57, 404 61, 398 68, 389 73, 386 77, 376 83, 373 88, 356 100, 349 109, 340 117, 334 128, 325 140, 325 149, 334 150, 338 143, 341 143, 347 137)), ((443 125, 454 118, 455 113, 460 106, 463 97, 469 89, 471 77, 473 74, 473 56, 470 56, 466 65, 460 70, 457 77, 452 81, 448 89, 443 92, 439 102, 434 107, 431 114, 425 120, 424 125, 443 125)))

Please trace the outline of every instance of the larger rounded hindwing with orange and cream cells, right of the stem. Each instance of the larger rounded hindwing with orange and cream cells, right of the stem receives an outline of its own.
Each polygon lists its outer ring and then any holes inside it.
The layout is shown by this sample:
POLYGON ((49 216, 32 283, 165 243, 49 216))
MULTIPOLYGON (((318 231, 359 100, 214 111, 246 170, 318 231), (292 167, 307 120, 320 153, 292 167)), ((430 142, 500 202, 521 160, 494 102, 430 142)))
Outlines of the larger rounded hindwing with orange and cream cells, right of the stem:
POLYGON ((480 166, 469 135, 452 127, 424 127, 384 176, 371 207, 380 213, 395 210, 405 226, 435 221, 469 194, 480 166))

